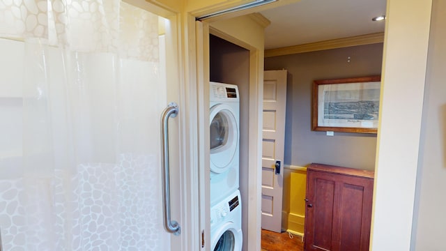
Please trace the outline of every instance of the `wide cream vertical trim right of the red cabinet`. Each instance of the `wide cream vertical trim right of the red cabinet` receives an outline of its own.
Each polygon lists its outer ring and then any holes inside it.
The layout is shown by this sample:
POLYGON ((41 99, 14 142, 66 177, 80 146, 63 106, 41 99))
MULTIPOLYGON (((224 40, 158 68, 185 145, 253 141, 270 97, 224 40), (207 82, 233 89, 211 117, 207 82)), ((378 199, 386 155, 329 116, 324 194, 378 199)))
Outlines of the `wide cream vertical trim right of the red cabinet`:
POLYGON ((410 250, 431 8, 387 1, 370 250, 410 250))

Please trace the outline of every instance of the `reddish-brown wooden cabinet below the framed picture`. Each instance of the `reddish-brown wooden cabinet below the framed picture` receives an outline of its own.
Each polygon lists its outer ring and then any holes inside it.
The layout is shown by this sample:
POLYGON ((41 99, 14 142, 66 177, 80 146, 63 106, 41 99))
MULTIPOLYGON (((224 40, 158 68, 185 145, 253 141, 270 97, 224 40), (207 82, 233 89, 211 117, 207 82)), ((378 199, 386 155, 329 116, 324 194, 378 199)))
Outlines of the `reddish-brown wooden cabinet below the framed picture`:
POLYGON ((305 250, 369 250, 374 172, 307 168, 305 250))

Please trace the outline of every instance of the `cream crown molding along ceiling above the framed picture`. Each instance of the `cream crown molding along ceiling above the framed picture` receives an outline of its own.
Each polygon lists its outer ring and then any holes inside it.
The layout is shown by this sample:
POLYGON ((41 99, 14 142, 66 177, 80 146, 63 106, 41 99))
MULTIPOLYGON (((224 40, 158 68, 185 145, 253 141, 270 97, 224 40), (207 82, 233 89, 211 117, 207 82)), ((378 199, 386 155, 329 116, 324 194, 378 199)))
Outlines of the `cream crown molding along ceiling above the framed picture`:
POLYGON ((306 43, 302 45, 293 45, 289 47, 265 50, 265 57, 298 54, 302 52, 316 52, 320 50, 330 50, 357 45, 371 45, 374 43, 383 42, 384 32, 378 32, 360 36, 352 36, 348 38, 337 38, 321 42, 306 43))

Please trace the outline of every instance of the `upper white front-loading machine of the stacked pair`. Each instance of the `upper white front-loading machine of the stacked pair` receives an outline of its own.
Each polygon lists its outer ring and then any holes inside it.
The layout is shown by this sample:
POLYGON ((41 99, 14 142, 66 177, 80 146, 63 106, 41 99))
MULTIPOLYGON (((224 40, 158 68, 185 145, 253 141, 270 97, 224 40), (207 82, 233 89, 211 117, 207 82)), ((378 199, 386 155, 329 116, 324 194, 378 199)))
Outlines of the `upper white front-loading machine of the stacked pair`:
POLYGON ((210 206, 238 190, 240 98, 234 84, 210 82, 210 206))

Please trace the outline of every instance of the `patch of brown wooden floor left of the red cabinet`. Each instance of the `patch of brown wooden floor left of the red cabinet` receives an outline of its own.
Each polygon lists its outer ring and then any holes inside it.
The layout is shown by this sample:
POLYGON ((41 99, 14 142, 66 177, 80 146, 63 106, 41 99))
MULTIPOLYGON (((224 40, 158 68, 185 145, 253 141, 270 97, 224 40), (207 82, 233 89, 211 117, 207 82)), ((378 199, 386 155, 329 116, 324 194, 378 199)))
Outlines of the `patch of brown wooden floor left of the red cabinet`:
POLYGON ((304 243, 300 236, 290 238, 288 232, 275 233, 262 229, 262 251, 302 251, 304 243))

